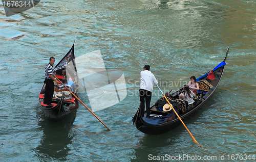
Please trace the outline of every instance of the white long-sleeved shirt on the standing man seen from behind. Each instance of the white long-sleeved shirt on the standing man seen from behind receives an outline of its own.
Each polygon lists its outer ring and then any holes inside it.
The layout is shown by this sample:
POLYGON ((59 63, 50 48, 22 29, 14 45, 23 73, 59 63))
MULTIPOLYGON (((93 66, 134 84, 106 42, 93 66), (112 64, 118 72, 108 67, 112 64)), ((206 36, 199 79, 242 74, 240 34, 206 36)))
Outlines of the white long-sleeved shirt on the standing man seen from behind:
POLYGON ((158 84, 156 77, 151 71, 144 70, 140 72, 140 89, 153 91, 153 83, 158 84))

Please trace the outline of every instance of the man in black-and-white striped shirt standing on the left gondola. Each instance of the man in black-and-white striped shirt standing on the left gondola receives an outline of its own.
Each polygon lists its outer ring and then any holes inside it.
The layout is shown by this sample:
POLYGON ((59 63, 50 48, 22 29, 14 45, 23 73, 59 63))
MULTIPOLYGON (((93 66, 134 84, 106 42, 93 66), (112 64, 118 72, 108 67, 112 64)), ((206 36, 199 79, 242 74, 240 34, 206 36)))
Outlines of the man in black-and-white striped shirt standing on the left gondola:
POLYGON ((53 64, 55 62, 54 57, 50 57, 50 62, 46 65, 45 69, 45 84, 46 84, 46 91, 45 91, 45 99, 44 104, 47 104, 48 106, 53 106, 52 97, 54 92, 54 83, 56 82, 58 84, 58 80, 53 77, 53 64))

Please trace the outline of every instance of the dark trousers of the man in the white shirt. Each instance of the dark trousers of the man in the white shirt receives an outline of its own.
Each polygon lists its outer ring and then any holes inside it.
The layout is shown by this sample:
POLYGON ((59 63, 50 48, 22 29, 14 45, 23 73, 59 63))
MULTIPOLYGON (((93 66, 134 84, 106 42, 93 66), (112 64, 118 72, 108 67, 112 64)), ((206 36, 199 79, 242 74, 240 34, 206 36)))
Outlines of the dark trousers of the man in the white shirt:
POLYGON ((144 116, 145 111, 145 100, 146 100, 146 117, 150 117, 150 101, 152 92, 140 89, 140 113, 142 116, 144 116))

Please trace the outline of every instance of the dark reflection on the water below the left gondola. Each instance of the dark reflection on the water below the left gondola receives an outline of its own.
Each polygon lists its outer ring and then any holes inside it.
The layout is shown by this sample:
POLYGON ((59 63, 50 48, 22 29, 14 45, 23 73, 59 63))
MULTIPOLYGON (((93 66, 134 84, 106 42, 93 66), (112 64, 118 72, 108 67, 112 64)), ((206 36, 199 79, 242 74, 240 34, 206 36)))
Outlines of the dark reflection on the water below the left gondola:
POLYGON ((72 126, 76 118, 77 110, 60 122, 50 121, 48 119, 39 120, 39 129, 44 133, 40 144, 35 148, 36 156, 47 160, 66 160, 75 137, 72 132, 72 126))

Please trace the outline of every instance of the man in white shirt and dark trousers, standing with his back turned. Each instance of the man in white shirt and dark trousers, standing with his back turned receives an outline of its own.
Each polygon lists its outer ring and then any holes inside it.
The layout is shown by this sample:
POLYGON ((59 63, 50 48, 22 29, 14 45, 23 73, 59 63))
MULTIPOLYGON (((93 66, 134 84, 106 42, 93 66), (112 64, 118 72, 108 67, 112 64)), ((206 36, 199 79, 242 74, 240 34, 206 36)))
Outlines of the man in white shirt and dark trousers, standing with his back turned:
POLYGON ((145 101, 146 101, 146 117, 150 117, 150 101, 152 96, 152 90, 153 90, 153 83, 155 85, 158 84, 156 77, 154 74, 149 71, 150 65, 145 65, 143 67, 143 71, 140 72, 140 112, 141 115, 144 116, 145 111, 145 101))

